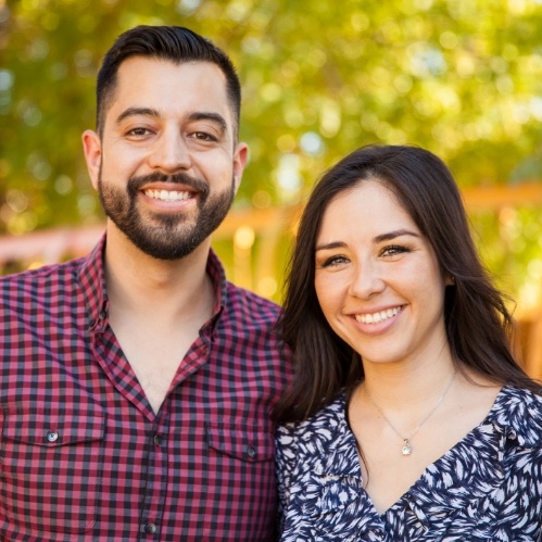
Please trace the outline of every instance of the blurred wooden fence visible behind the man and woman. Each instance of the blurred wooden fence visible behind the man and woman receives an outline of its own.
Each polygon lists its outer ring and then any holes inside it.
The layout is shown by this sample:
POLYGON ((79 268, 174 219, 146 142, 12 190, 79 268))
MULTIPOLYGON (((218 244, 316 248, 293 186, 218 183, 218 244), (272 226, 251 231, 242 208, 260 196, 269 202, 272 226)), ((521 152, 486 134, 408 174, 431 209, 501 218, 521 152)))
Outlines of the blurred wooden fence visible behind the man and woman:
MULTIPOLYGON (((463 196, 469 211, 535 206, 541 209, 542 218, 541 181, 471 188, 464 190, 463 196)), ((293 206, 230 212, 214 234, 213 244, 234 282, 280 300, 281 267, 300 211, 293 206)), ((100 224, 21 237, 0 236, 0 272, 7 274, 84 255, 103 230, 100 224)), ((519 314, 518 349, 526 370, 542 379, 542 299, 537 300, 534 307, 528 314, 519 314)))

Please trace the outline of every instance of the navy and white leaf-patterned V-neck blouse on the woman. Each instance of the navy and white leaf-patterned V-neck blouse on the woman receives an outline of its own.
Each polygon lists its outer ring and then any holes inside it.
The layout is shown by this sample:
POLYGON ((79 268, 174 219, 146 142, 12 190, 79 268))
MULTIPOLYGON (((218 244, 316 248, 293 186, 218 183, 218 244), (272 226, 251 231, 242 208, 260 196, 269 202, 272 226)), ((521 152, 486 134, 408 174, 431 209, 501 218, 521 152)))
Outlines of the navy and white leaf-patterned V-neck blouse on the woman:
POLYGON ((542 541, 542 396, 504 387, 486 419, 383 514, 340 395, 277 433, 281 541, 542 541))

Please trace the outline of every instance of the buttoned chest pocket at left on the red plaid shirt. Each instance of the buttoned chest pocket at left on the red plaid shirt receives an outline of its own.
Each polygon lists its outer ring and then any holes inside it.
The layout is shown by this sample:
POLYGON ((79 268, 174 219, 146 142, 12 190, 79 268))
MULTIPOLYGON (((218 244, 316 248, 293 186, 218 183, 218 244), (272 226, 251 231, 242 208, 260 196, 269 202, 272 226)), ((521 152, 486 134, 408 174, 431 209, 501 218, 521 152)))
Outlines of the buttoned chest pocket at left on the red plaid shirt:
POLYGON ((101 408, 8 406, 0 421, 0 516, 42 531, 88 531, 102 472, 101 408))

